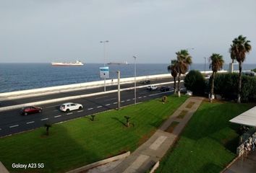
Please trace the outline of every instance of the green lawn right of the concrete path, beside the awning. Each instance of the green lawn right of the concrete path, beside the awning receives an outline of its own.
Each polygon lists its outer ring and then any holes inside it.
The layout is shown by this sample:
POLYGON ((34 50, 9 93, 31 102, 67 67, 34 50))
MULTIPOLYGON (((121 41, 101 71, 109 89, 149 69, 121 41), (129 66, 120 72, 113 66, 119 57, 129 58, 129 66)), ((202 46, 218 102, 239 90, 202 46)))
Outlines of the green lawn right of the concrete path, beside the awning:
POLYGON ((229 120, 252 106, 202 102, 157 172, 221 172, 235 158, 238 146, 239 125, 229 120))

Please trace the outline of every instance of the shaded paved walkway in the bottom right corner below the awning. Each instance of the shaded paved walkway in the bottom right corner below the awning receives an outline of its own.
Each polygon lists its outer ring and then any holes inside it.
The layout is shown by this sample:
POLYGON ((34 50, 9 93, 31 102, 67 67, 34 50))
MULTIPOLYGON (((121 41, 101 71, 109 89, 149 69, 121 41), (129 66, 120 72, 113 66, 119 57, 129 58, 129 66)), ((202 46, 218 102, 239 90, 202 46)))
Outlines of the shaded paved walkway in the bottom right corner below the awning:
POLYGON ((247 156, 241 156, 234 161, 224 173, 255 173, 256 172, 256 151, 251 151, 247 156))

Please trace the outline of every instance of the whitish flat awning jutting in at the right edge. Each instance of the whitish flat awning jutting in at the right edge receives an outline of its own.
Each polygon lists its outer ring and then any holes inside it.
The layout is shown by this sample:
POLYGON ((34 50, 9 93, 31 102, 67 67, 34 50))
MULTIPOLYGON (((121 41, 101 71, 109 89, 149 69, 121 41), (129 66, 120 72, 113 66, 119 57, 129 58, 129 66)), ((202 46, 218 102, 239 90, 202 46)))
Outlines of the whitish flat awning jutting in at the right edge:
POLYGON ((256 106, 229 120, 231 123, 256 127, 256 106))

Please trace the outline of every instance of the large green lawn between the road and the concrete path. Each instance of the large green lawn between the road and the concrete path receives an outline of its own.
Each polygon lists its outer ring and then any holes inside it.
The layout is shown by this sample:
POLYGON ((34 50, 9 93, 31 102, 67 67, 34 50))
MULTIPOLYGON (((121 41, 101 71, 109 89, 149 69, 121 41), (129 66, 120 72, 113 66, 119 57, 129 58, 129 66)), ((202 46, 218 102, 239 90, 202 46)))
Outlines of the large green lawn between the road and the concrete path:
POLYGON ((102 112, 91 121, 82 117, 45 128, 0 138, 0 161, 10 172, 65 172, 124 151, 134 151, 187 99, 168 97, 102 112), (127 115, 131 127, 124 126, 127 115), (12 169, 12 163, 43 163, 44 169, 12 169))

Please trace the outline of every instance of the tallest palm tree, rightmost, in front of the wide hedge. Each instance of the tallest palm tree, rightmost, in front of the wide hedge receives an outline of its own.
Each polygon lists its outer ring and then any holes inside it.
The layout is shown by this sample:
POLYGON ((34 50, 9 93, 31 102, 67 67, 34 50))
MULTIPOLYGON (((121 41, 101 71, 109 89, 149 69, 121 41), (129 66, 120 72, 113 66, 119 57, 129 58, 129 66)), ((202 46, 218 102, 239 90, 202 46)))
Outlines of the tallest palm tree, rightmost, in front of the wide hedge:
POLYGON ((232 61, 236 59, 239 63, 239 84, 238 84, 238 94, 237 94, 237 102, 241 102, 241 91, 242 91, 242 63, 245 60, 246 53, 249 53, 252 50, 252 46, 249 45, 250 41, 247 40, 247 37, 243 37, 239 35, 235 38, 229 49, 229 53, 231 56, 232 61))

